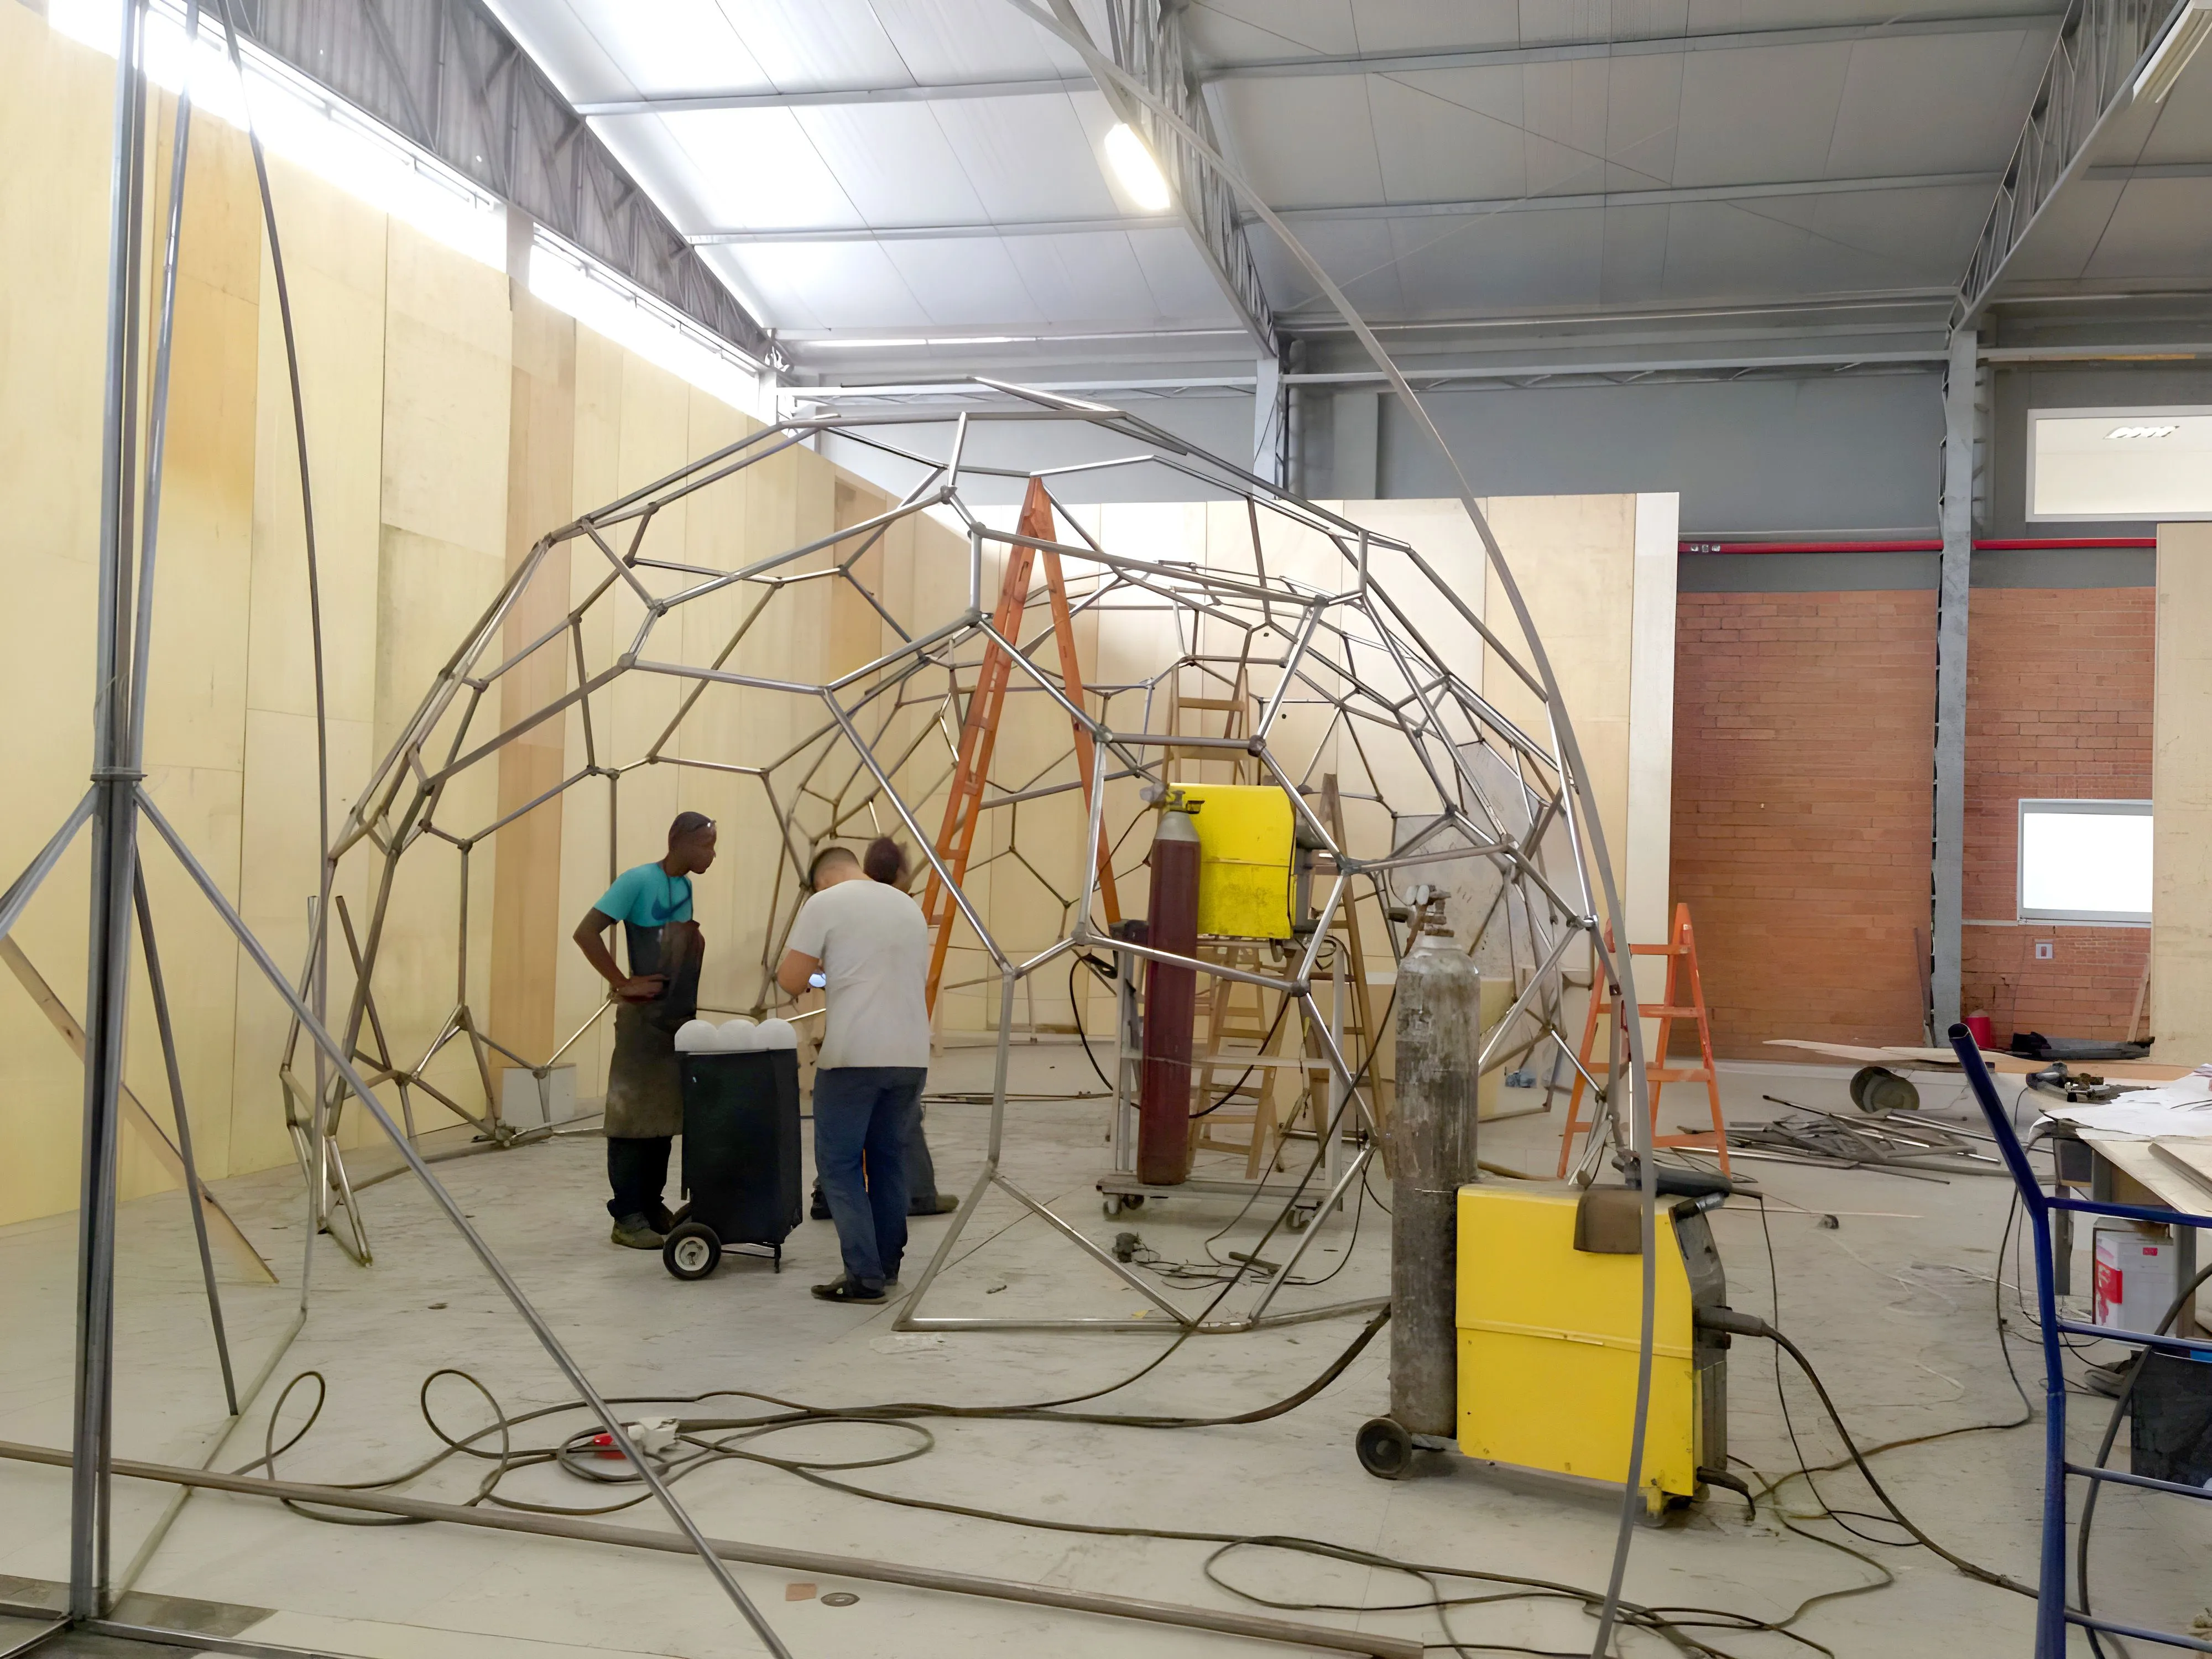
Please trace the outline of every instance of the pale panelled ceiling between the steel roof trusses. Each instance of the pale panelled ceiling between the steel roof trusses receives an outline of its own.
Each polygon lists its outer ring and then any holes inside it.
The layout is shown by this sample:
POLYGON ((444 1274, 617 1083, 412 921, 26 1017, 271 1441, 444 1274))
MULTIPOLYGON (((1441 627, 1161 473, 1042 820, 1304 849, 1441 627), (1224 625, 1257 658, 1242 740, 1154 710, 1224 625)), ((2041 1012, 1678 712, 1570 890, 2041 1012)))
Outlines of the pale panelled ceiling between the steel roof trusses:
MULTIPOLYGON (((1095 40, 1106 4, 1073 7, 1095 40)), ((1102 161, 1117 117, 1077 53, 1006 0, 495 11, 801 363, 885 336, 1243 349, 1199 243, 1102 161)), ((1232 166, 1363 312, 1416 325, 1947 310, 2064 15, 2048 0, 1190 0, 1177 22, 1232 166)), ((2006 283, 2201 281, 2205 75, 2099 133, 2006 283)), ((1243 234, 1276 321, 1323 321, 1272 232, 1243 234)))

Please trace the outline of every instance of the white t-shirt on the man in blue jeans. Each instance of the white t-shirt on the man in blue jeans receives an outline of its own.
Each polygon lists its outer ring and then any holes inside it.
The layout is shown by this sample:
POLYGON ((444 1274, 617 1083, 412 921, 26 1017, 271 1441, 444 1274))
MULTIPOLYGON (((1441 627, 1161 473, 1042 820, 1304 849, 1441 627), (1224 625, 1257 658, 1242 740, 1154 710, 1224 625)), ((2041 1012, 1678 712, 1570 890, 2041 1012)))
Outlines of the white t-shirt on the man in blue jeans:
POLYGON ((823 964, 830 1013, 814 1064, 929 1064, 929 922, 880 880, 823 887, 792 922, 790 949, 823 964))

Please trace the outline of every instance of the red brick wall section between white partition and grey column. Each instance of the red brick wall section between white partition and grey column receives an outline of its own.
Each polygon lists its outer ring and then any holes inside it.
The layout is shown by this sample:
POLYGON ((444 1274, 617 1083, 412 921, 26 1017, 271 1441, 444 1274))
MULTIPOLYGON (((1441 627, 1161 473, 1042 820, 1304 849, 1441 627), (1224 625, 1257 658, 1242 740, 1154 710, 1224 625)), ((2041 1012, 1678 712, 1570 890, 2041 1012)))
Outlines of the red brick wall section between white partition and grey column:
POLYGON ((1936 595, 1683 593, 1677 624, 1672 876, 1714 1051, 1920 1042, 1936 595))

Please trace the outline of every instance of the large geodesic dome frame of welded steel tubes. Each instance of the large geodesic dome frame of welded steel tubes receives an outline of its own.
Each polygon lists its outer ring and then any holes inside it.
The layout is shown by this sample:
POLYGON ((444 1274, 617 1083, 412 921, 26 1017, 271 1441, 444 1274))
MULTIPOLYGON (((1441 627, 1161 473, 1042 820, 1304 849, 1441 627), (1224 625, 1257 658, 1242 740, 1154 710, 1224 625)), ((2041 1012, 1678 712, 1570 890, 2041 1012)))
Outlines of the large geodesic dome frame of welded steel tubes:
MULTIPOLYGON (((1310 1053, 1329 1079, 1327 1099, 1310 1104, 1310 1121, 1321 1139, 1334 1146, 1345 1137, 1354 1148, 1329 1161, 1327 1199, 1360 1177, 1380 1124, 1371 1075, 1380 1031, 1349 1040, 1340 1013, 1332 1022, 1314 993, 1352 907, 1365 907, 1369 938, 1398 956, 1409 889, 1449 887, 1467 949, 1515 991, 1486 1031, 1484 1071, 1515 1064, 1544 1042, 1557 1042, 1573 1064, 1562 1033, 1564 967, 1577 942, 1595 938, 1584 799, 1562 759, 1559 712, 1544 703, 1522 655, 1464 597, 1480 595, 1484 582, 1480 557, 1464 564, 1447 573, 1411 542, 1301 500, 1126 411, 1022 387, 975 383, 956 407, 821 414, 763 427, 542 538, 438 672, 330 849, 334 863, 367 849, 376 869, 363 931, 356 936, 352 918, 341 918, 358 975, 345 1042, 369 1062, 372 1082, 398 1088, 403 1106, 411 1088, 429 1088, 489 1137, 515 1137, 498 1117, 491 1057, 542 1079, 560 1053, 529 1057, 482 1029, 469 1002, 462 920, 453 1011, 420 1062, 396 1064, 376 1002, 383 922, 407 860, 442 847, 458 860, 467 907, 473 849, 495 845, 502 830, 551 810, 571 790, 608 792, 611 841, 622 783, 644 768, 677 768, 750 794, 772 832, 745 872, 772 889, 757 1011, 776 995, 770 969, 812 856, 838 838, 902 832, 927 863, 933 920, 975 964, 949 989, 980 984, 987 1004, 995 1002, 987 1029, 998 1040, 998 1068, 987 1168, 900 1325, 1159 1329, 1157 1316, 1137 1325, 922 1314, 991 1186, 1051 1221, 1170 1318, 1194 1323, 1002 1175, 1018 991, 1055 964, 1066 973, 1071 953, 1091 953, 1119 960, 1124 973, 1141 960, 1186 964, 1201 980, 1250 984, 1296 1004, 1310 1053), (1035 471, 978 458, 984 429, 993 429, 993 453, 1004 453, 1020 447, 1022 429, 1042 422, 1086 425, 1126 445, 1126 453, 1035 471), (681 540, 670 533, 679 515, 730 513, 728 498, 745 489, 750 471, 801 442, 858 447, 876 458, 876 471, 911 473, 911 487, 887 511, 721 568, 670 546, 681 540), (1117 522, 1115 509, 1071 509, 1055 498, 1062 478, 1102 467, 1150 476, 1161 493, 1188 495, 1199 484, 1212 498, 1197 509, 1208 526, 1203 557, 1188 557, 1188 546, 1164 557, 1141 522, 1133 529, 1117 522), (1042 522, 1024 515, 1024 531, 1009 526, 1002 509, 973 507, 967 495, 982 480, 1000 493, 1006 480, 1026 487, 1033 504, 1046 504, 1042 522), (938 535, 933 557, 914 535, 911 522, 922 515, 956 531, 938 535), (1053 533, 1037 533, 1042 526, 1053 533), (905 564, 887 557, 900 535, 905 564), (533 584, 549 580, 549 553, 564 542, 593 575, 571 575, 557 606, 540 595, 540 615, 557 615, 515 648, 509 622, 531 602, 533 584), (825 653, 823 630, 834 628, 838 606, 852 664, 814 677, 776 672, 792 641, 812 639, 816 659, 825 653), (1088 637, 1088 666, 1075 661, 1075 633, 1088 637), (975 699, 989 695, 993 655, 1006 690, 980 719, 975 699), (557 664, 560 688, 515 717, 504 686, 529 664, 546 686, 557 664), (608 706, 619 688, 648 679, 668 688, 650 719, 635 710, 613 719, 608 706), (1509 695, 1524 710, 1520 719, 1500 706, 1509 695), (495 765, 509 743, 553 719, 573 723, 582 765, 480 825, 445 821, 458 781, 495 765), (991 732, 975 743, 967 726, 991 732), (962 768, 973 785, 967 796, 953 787, 962 768), (1102 891, 1102 876, 1130 887, 1150 843, 1152 803, 1194 774, 1232 774, 1290 799, 1316 867, 1310 911, 1292 940, 1241 956, 1201 949, 1199 958, 1181 958, 1110 929, 1110 883, 1102 891), (975 863, 953 852, 962 810, 1004 825, 987 836, 975 863), (1009 883, 1026 887, 1020 900, 1009 896, 1009 883), (422 1075, 453 1042, 473 1051, 480 1113, 422 1075)), ((1336 967, 1329 978, 1340 973, 1336 967)), ((365 1254, 334 1146, 341 1091, 332 1086, 316 1104, 290 1068, 285 1088, 310 1183, 325 1214, 345 1210, 352 1248, 365 1254)), ((1601 1139, 1604 1130, 1593 1135, 1593 1152, 1601 1139)), ((1267 1314, 1272 1296, 1274 1287, 1245 1314, 1199 1327, 1248 1329, 1349 1307, 1267 1314)))

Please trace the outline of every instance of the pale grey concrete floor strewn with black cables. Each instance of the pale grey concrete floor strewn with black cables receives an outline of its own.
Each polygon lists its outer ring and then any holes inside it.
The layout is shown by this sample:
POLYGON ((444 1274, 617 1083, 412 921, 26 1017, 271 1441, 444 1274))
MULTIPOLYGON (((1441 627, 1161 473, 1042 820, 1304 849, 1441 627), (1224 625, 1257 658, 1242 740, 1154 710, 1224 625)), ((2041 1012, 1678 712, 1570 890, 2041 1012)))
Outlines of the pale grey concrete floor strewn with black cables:
MULTIPOLYGON (((1763 1093, 1843 1108, 1845 1071, 1772 1066, 1732 1071, 1730 1113, 1772 1110, 1763 1093)), ((975 1088, 987 1055, 951 1051, 933 1088, 975 1088)), ((1018 1088, 1064 1093, 1091 1086, 1071 1046, 1018 1051, 1018 1088)), ((1929 1106, 1960 1104, 1955 1084, 1922 1079, 1929 1106)), ((1177 1199, 1108 1221, 1091 1188, 1106 1166, 1097 1102, 1022 1102, 1011 1108, 1006 1170, 1095 1239, 1135 1228, 1168 1259, 1201 1256, 1201 1239, 1234 1206, 1177 1199)), ((1670 1119, 1672 1121, 1672 1119, 1670 1119)), ((940 1102, 931 1144, 947 1190, 964 1190, 980 1164, 984 1108, 940 1102)), ((1557 1117, 1486 1126, 1484 1157, 1548 1170, 1557 1117)), ((363 1159, 361 1168, 372 1168, 363 1159)), ((1781 1318, 1820 1365, 1865 1442, 1931 1433, 2020 1416, 1991 1316, 1991 1274, 2008 1188, 1995 1179, 1951 1183, 1893 1175, 1752 1166, 1770 1194, 1781 1318), (1836 1230, 1818 1225, 1838 1219, 1836 1230)), ((606 1243, 602 1152, 593 1139, 440 1166, 465 1210, 538 1301, 562 1340, 608 1394, 681 1396, 748 1387, 834 1405, 872 1400, 1046 1400, 1104 1387, 1161 1352, 1164 1338, 1133 1336, 900 1336, 887 1310, 836 1307, 805 1294, 836 1270, 827 1223, 792 1237, 787 1270, 726 1261, 703 1283, 672 1281, 657 1256, 606 1243)), ((283 1274, 252 1287, 226 1272, 226 1310, 241 1378, 263 1367, 299 1301, 301 1230, 296 1177, 276 1170, 221 1186, 248 1232, 283 1274)), ((330 1400, 314 1431, 281 1460, 296 1480, 363 1480, 436 1449, 416 1411, 422 1378, 467 1367, 507 1405, 526 1409, 566 1398, 551 1363, 511 1314, 465 1245, 411 1181, 365 1197, 376 1265, 356 1267, 323 1241, 314 1261, 312 1316, 276 1365, 276 1380, 215 1460, 237 1467, 259 1455, 270 1405, 299 1371, 321 1371, 330 1400)), ((927 1252, 945 1221, 918 1221, 914 1250, 927 1252)), ((1259 1232, 1259 1217, 1239 1237, 1259 1232)), ((1358 1239, 1345 1221, 1316 1241, 1310 1270, 1343 1270, 1325 1287, 1287 1290, 1279 1305, 1371 1296, 1387 1287, 1389 1230, 1374 1206, 1358 1239), (1349 1248, 1349 1261, 1345 1252, 1349 1248), (1298 1298, 1298 1301, 1294 1301, 1298 1298)), ((1239 1237, 1219 1248, 1232 1248, 1239 1237)), ((1732 1203, 1714 1217, 1732 1301, 1772 1312, 1759 1208, 1732 1203)), ((73 1217, 0 1230, 0 1438, 66 1444, 73 1217)), ((1270 1254, 1279 1245, 1270 1245, 1270 1254)), ((909 1256, 914 1259, 914 1256, 909 1256)), ((920 1261, 907 1272, 911 1283, 920 1261)), ((2006 1270, 2008 1272, 2008 1270, 2006 1270)), ((2077 1276, 2077 1283, 2086 1279, 2077 1276)), ((1203 1292, 1179 1292, 1197 1303, 1203 1292)), ((1250 1296, 1248 1290, 1239 1296, 1250 1296)), ((956 1270, 931 1292, 931 1312, 1121 1314, 1141 1301, 1068 1241, 1022 1219, 1002 1194, 984 1201, 956 1270)), ((1292 1394, 1352 1338, 1356 1321, 1296 1325, 1252 1336, 1208 1336, 1183 1345, 1161 1369, 1110 1396, 1110 1409, 1225 1413, 1292 1394)), ((126 1206, 117 1305, 122 1354, 119 1453, 159 1462, 204 1462, 221 1429, 221 1394, 190 1250, 175 1197, 126 1206)), ((2035 1349, 2015 1347, 2033 1387, 2035 1349)), ((1387 1334, 1329 1389, 1283 1418, 1234 1429, 1137 1431, 1053 1422, 936 1422, 927 1458, 867 1469, 847 1480, 885 1491, 1130 1526, 1223 1533, 1301 1533, 1396 1557, 1471 1564, 1601 1586, 1617 1506, 1610 1498, 1562 1491, 1460 1458, 1436 1458, 1420 1478, 1378 1482, 1352 1455, 1354 1429, 1387 1402, 1387 1334)), ((305 1391, 285 1411, 299 1422, 305 1391)), ((1772 1354, 1739 1340, 1730 1376, 1732 1451, 1761 1471, 1796 1462, 1774 1396, 1772 1354)), ((1798 1442, 1827 1462, 1838 1442, 1812 1391, 1790 1380, 1798 1442)), ((434 1402, 445 1422, 478 1425, 482 1405, 460 1383, 434 1402)), ((732 1407, 732 1411, 743 1409, 732 1407)), ((562 1420, 580 1422, 580 1420, 562 1420)), ((2104 1411, 2075 1409, 2077 1451, 2095 1447, 2104 1411)), ((863 1458, 902 1447, 876 1427, 818 1427, 763 1444, 779 1455, 863 1458)), ((1878 1460, 1905 1509, 1951 1548, 2033 1579, 2042 1431, 1973 1433, 1900 1449, 1878 1460)), ((476 1471, 445 1467, 418 1495, 465 1498, 476 1471)), ((522 1471, 502 1489, 540 1502, 586 1504, 595 1493, 553 1469, 522 1471)), ((721 1464, 681 1486, 710 1535, 1113 1590, 1201 1606, 1250 1606, 1208 1584, 1208 1548, 1031 1531, 894 1509, 805 1484, 763 1464, 721 1464)), ((66 1473, 0 1464, 0 1575, 66 1575, 66 1473)), ((1847 1475, 1823 1478, 1845 1509, 1871 1509, 1847 1475)), ((117 1482, 115 1562, 133 1557, 170 1489, 117 1482)), ((1809 1509, 1803 1482, 1787 1493, 1809 1509)), ((622 1520, 661 1526, 646 1511, 622 1520)), ((2101 1610, 2143 1624, 2188 1628, 2212 1599, 2205 1571, 2212 1528, 2201 1506, 2112 1489, 2097 1528, 2101 1610)), ((1814 1524, 1834 1533, 1834 1524, 1814 1524)), ((1887 1528, 1885 1528, 1885 1535, 1887 1528)), ((2024 1652, 2031 1604, 1971 1579, 1916 1548, 1858 1544, 1896 1575, 1871 1595, 1825 1601, 1796 1626, 1840 1655, 2024 1652)), ((1447 1639, 1427 1590, 1402 1575, 1321 1562, 1310 1555, 1243 1553, 1221 1566, 1243 1588, 1285 1601, 1413 1610, 1298 1613, 1411 1639, 1447 1639)), ((1759 1619, 1787 1615, 1820 1593, 1876 1582, 1876 1571, 1783 1531, 1761 1504, 1717 1493, 1710 1504, 1635 1542, 1628 1593, 1646 1604, 1717 1606, 1759 1619)), ((1212 1659, 1261 1652, 1232 1637, 1051 1615, 878 1584, 792 1586, 783 1575, 739 1568, 794 1655, 1037 1655, 1093 1659, 1161 1655, 1212 1659), (852 1590, 852 1606, 821 1593, 852 1590), (790 1599, 796 1597, 796 1599, 790 1599)), ((0 1586, 4 1588, 4 1586, 0 1586)), ((560 1659, 562 1655, 679 1655, 714 1659, 757 1644, 697 1562, 635 1555, 593 1544, 489 1535, 440 1526, 334 1528, 274 1504, 201 1493, 137 1579, 157 1595, 190 1595, 248 1610, 252 1639, 376 1659, 560 1659)), ((1480 1590, 1482 1586, 1462 1586, 1480 1590)), ((0 1595, 0 1599, 15 1599, 0 1595)), ((1590 1621, 1571 1604, 1498 1604, 1453 1613, 1467 1644, 1526 1644, 1588 1650, 1590 1621)), ((0 1652, 11 1632, 0 1624, 0 1652)), ((1803 1652, 1772 1635, 1717 1635, 1732 1655, 1803 1652)), ((95 1648, 86 1646, 84 1652, 95 1648)), ((1469 1648, 1473 1650, 1473 1648, 1469 1648)), ((75 1648, 71 1648, 75 1652, 75 1648)), ((175 1650, 170 1650, 175 1652, 175 1650)), ((1674 1652, 1655 1635, 1630 1632, 1621 1652, 1674 1652)))

